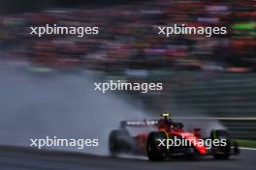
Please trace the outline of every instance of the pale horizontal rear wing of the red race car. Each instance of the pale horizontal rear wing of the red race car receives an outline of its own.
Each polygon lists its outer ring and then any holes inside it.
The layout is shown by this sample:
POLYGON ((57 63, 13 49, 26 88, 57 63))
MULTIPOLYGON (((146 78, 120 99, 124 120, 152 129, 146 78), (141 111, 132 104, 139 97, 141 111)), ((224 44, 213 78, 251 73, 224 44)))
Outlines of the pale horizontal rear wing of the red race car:
POLYGON ((121 121, 120 127, 148 127, 148 126, 156 126, 158 123, 157 120, 144 120, 144 121, 121 121))

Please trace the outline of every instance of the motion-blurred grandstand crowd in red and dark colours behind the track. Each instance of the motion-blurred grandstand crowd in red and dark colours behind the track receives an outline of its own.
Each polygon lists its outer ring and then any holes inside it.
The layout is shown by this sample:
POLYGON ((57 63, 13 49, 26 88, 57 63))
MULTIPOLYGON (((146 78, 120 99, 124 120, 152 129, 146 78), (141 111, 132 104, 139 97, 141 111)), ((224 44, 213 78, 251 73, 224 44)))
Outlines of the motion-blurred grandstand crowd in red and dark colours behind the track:
POLYGON ((48 9, 2 15, 0 44, 11 60, 48 67, 92 70, 125 69, 255 71, 255 1, 157 0, 85 9, 48 9), (175 9, 175 10, 174 10, 175 9), (29 37, 29 26, 97 25, 100 36, 88 39, 29 37), (225 37, 203 39, 156 36, 156 25, 226 26, 225 37))

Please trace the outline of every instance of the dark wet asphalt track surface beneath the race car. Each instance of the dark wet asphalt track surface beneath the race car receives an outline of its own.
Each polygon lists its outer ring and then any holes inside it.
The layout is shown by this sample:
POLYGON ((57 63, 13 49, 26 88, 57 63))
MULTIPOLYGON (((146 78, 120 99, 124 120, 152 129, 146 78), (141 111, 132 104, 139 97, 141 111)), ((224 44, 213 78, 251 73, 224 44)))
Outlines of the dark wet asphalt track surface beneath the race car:
POLYGON ((1 170, 253 170, 256 151, 242 150, 230 160, 172 159, 149 162, 144 158, 113 158, 70 153, 46 153, 16 148, 0 148, 1 170))

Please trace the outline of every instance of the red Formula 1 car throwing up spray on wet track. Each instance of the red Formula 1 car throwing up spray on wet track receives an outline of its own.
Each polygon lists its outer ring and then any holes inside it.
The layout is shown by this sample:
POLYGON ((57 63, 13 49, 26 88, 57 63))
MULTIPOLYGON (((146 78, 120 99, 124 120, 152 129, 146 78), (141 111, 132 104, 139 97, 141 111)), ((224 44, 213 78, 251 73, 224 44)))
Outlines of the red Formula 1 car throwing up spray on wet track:
POLYGON ((181 123, 174 123, 169 114, 159 120, 122 121, 119 129, 110 134, 112 156, 120 153, 146 155, 149 160, 164 160, 168 156, 213 156, 228 159, 240 149, 225 129, 212 129, 208 138, 202 138, 201 129, 185 131, 181 123), (130 135, 128 127, 154 128, 130 135))

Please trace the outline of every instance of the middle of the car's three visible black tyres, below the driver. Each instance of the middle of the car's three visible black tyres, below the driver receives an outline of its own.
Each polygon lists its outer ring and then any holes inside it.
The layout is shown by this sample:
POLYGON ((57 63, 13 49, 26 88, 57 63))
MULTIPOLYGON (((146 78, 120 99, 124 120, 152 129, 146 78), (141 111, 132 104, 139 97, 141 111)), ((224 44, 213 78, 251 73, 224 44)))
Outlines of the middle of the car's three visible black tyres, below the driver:
POLYGON ((146 141, 146 154, 151 161, 161 161, 165 159, 166 147, 158 146, 159 139, 167 139, 166 133, 163 131, 152 131, 148 134, 146 141))

